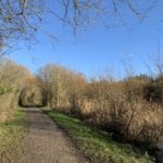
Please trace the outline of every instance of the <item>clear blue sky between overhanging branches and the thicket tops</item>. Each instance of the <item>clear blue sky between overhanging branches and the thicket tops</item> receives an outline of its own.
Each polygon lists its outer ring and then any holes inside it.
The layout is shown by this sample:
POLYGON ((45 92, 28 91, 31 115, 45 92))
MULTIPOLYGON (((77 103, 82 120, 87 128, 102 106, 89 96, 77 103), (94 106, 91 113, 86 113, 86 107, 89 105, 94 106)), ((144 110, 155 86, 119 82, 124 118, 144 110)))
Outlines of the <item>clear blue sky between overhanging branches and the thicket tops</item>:
POLYGON ((38 43, 32 46, 30 50, 20 42, 20 49, 10 55, 33 73, 48 63, 57 63, 79 71, 88 77, 113 66, 122 77, 125 74, 123 60, 131 60, 136 73, 143 73, 147 72, 143 62, 148 54, 156 52, 158 40, 160 48, 163 47, 163 23, 160 23, 163 20, 163 7, 151 11, 141 24, 136 17, 127 16, 131 30, 125 27, 105 28, 99 23, 86 30, 80 29, 76 39, 68 27, 63 27, 57 20, 50 23, 52 20, 48 18, 42 27, 57 36, 58 41, 52 42, 39 33, 38 43))

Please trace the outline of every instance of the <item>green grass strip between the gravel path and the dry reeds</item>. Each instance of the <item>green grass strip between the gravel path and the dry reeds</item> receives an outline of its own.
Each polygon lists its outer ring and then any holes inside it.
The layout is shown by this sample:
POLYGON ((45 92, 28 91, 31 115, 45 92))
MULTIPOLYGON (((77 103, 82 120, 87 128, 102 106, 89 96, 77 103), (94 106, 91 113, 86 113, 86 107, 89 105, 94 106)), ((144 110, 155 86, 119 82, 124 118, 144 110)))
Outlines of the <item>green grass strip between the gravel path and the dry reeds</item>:
POLYGON ((131 145, 114 141, 106 133, 91 129, 77 118, 57 111, 43 111, 66 131, 92 163, 151 163, 148 154, 131 145))

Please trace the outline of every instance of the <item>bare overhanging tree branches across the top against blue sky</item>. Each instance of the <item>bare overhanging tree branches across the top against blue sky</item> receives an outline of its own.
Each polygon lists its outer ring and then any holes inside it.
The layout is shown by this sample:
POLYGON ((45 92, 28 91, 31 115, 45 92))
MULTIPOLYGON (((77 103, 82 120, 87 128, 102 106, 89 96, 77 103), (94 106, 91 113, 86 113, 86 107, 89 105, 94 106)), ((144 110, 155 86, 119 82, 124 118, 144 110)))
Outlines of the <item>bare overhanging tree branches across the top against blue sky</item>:
POLYGON ((126 10, 142 21, 156 2, 158 0, 0 0, 0 37, 3 38, 3 45, 8 39, 28 40, 38 30, 52 37, 39 27, 47 14, 70 25, 74 33, 95 20, 109 26, 109 22, 115 22, 112 17, 118 17, 125 25, 126 10))

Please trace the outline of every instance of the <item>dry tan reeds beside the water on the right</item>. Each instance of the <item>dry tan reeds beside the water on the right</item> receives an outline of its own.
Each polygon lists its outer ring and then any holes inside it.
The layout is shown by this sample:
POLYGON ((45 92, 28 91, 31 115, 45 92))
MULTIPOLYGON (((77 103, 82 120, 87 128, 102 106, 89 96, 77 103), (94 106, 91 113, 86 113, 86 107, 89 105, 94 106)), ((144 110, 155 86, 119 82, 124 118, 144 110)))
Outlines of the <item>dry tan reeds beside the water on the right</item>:
POLYGON ((128 91, 124 88, 118 91, 113 87, 105 88, 100 99, 86 101, 82 114, 89 117, 89 124, 116 131, 130 140, 156 142, 163 133, 162 106, 134 95, 128 100, 128 91))

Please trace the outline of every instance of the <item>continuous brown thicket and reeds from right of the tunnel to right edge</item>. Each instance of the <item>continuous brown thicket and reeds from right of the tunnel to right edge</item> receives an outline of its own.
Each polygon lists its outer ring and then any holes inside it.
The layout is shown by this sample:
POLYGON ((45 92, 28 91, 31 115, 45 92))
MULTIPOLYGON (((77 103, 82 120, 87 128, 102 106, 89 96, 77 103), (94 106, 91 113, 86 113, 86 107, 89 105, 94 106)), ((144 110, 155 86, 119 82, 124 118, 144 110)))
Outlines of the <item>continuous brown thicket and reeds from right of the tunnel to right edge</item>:
POLYGON ((126 139, 156 142, 163 133, 162 82, 146 75, 87 80, 58 65, 38 73, 45 103, 126 139))

